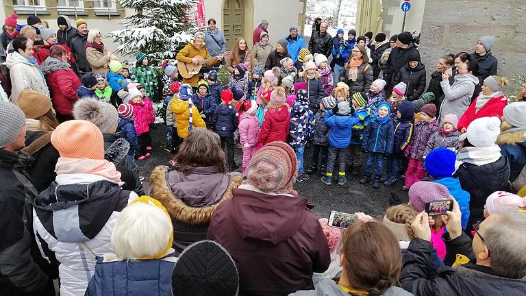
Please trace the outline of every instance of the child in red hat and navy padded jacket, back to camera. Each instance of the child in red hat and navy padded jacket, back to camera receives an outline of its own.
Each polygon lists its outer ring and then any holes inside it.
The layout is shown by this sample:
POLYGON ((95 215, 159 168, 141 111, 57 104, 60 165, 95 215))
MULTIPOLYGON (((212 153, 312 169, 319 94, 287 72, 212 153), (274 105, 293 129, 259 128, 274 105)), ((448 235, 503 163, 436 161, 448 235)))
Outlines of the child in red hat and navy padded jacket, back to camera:
POLYGON ((216 133, 221 138, 221 148, 227 148, 228 168, 235 171, 239 168, 234 162, 234 131, 238 128, 238 111, 231 106, 234 95, 230 90, 223 90, 221 93, 221 104, 214 111, 212 125, 216 133))

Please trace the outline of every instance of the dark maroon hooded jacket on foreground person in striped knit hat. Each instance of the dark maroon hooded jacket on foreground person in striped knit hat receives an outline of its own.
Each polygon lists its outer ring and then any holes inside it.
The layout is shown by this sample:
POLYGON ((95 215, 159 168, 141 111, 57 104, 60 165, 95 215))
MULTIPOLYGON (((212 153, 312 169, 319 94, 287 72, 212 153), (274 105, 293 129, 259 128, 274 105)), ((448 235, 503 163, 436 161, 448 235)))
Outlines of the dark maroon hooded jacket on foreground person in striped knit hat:
POLYGON ((236 261, 240 295, 289 295, 314 288, 312 273, 331 262, 307 199, 262 193, 251 185, 216 208, 208 236, 236 261))

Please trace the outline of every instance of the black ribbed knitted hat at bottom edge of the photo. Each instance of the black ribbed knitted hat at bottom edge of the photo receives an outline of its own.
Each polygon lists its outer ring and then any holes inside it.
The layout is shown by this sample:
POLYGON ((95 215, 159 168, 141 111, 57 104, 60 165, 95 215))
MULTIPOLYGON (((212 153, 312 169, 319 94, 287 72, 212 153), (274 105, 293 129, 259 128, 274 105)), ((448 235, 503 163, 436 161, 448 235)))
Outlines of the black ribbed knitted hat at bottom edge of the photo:
POLYGON ((228 251, 212 240, 189 245, 179 255, 172 272, 177 296, 238 295, 239 275, 228 251))

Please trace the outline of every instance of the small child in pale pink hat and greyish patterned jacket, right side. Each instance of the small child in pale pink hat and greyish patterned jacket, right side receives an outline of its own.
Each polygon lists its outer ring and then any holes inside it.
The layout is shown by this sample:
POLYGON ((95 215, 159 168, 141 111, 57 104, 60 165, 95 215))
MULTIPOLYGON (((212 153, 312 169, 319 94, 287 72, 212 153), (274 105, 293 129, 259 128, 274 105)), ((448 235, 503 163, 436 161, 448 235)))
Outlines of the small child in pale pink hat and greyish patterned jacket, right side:
POLYGON ((460 132, 457 130, 458 117, 450 113, 442 116, 440 123, 442 124, 440 129, 431 134, 429 140, 427 140, 424 157, 427 156, 427 153, 439 147, 452 149, 453 151, 457 148, 458 137, 460 136, 460 132))

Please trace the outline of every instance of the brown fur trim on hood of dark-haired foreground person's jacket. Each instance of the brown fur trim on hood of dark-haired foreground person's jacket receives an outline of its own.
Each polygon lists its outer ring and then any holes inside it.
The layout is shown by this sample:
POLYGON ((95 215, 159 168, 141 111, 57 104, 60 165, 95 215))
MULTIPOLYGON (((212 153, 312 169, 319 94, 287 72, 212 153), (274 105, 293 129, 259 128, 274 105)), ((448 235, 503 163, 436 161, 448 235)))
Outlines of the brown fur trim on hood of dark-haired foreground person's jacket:
MULTIPOLYGON (((221 201, 232 197, 232 190, 238 188, 242 177, 237 173, 227 174, 229 185, 225 189, 221 199, 210 206, 189 206, 173 193, 173 187, 168 184, 168 167, 158 166, 150 175, 150 195, 157 199, 166 208, 170 217, 179 223, 187 225, 202 225, 212 220, 212 214, 221 201)), ((203 181, 204 182, 204 181, 203 181)), ((220 184, 218 184, 219 186, 220 184)))

